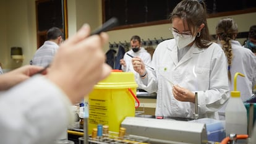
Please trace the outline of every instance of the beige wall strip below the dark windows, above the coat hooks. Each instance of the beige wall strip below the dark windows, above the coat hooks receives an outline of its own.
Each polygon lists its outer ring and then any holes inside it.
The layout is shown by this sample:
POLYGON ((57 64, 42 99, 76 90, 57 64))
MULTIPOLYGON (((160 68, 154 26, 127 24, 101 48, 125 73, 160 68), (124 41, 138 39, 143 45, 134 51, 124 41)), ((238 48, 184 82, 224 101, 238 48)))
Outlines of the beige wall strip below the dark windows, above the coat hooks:
MULTIPOLYGON (((236 21, 239 32, 247 32, 251 25, 256 25, 256 19, 253 19, 256 15, 256 12, 249 14, 241 14, 241 15, 230 15, 229 17, 233 17, 236 21)), ((228 17, 228 16, 227 16, 228 17)), ((215 27, 220 20, 221 17, 210 18, 207 19, 208 28, 211 35, 215 34, 215 27)), ((109 31, 109 42, 110 43, 119 43, 121 41, 130 41, 130 37, 132 35, 139 35, 143 40, 160 40, 161 37, 163 39, 173 38, 172 33, 168 30, 171 27, 171 23, 162 24, 162 25, 153 25, 148 27, 138 27, 138 28, 127 28, 124 30, 113 30, 109 31)), ((242 43, 245 39, 240 39, 239 41, 242 43)), ((108 46, 105 46, 105 50, 108 49, 108 46)))

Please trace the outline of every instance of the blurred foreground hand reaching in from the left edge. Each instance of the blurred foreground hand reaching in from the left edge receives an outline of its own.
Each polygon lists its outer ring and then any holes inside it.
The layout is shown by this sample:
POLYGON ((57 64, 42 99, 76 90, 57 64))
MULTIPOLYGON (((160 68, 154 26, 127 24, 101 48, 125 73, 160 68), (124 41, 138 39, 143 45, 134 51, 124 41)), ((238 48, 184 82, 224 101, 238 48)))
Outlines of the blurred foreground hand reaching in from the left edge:
MULTIPOLYGON (((43 67, 28 65, 0 75, 0 90, 8 90, 14 87, 14 85, 27 80, 41 69, 43 69, 43 67)), ((46 72, 43 74, 45 73, 46 72)))

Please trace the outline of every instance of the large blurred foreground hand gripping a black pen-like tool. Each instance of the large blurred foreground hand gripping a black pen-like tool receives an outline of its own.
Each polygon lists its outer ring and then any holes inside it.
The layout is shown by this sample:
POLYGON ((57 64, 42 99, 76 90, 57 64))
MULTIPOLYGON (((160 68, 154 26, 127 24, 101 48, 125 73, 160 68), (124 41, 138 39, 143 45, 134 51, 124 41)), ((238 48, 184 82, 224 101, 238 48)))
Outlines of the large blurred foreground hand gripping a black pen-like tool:
POLYGON ((73 104, 88 95, 93 86, 111 72, 102 50, 108 35, 89 35, 90 27, 83 25, 79 32, 64 41, 46 75, 69 96, 73 104))

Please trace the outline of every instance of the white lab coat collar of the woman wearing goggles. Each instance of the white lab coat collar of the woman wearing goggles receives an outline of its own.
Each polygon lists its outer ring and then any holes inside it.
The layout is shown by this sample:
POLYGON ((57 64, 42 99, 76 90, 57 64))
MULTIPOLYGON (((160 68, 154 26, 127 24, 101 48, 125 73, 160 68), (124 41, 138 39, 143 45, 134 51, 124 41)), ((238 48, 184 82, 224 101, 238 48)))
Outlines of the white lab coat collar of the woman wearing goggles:
POLYGON ((181 61, 178 62, 177 60, 177 45, 176 44, 168 44, 168 49, 171 51, 171 59, 173 59, 174 65, 176 67, 180 66, 184 62, 188 61, 192 58, 194 54, 203 53, 204 49, 200 49, 197 47, 197 45, 194 43, 189 51, 185 54, 184 57, 182 57, 181 61))

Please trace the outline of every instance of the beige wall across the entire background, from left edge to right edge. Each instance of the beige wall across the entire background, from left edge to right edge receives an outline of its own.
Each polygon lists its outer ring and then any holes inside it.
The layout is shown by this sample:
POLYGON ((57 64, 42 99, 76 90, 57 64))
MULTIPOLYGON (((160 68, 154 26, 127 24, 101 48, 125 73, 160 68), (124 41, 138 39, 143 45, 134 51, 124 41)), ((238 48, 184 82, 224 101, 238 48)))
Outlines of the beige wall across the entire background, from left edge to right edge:
MULTIPOLYGON (((74 35, 83 23, 89 23, 92 30, 101 25, 101 0, 67 0, 68 32, 74 35)), ((256 24, 256 12, 242 15, 232 15, 240 32, 248 31, 250 25, 256 24)), ((36 15, 35 0, 1 0, 0 1, 0 62, 4 69, 29 64, 36 51, 36 15), (16 63, 11 59, 12 46, 23 48, 24 60, 16 63)), ((208 19, 210 33, 215 33, 215 25, 220 18, 208 19)), ((153 25, 148 27, 127 28, 109 31, 109 42, 129 41, 132 35, 140 35, 144 40, 150 38, 171 38, 168 28, 171 24, 153 25)), ((104 50, 107 51, 108 44, 104 50)))

